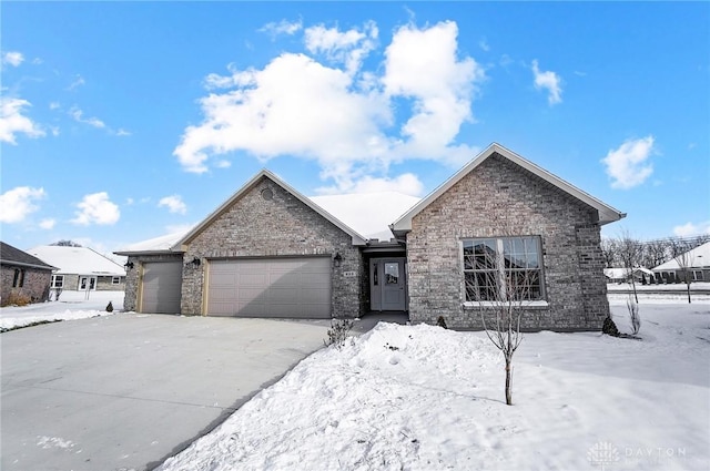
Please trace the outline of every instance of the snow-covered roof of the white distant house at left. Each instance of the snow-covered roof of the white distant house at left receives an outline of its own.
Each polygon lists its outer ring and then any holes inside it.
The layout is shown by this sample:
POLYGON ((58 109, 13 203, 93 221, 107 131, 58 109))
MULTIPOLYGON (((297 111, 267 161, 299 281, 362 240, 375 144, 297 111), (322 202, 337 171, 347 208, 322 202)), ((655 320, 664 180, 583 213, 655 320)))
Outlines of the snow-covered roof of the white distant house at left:
POLYGON ((40 245, 30 254, 59 267, 59 275, 125 276, 125 269, 89 247, 40 245))

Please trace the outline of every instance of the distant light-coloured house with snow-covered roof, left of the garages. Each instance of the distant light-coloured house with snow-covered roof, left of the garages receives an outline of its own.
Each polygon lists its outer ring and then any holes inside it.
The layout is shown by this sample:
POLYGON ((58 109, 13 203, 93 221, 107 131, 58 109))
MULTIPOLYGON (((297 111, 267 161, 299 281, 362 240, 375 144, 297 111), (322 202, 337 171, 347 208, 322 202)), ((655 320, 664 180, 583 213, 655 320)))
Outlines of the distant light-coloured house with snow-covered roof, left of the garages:
POLYGON ((125 289, 125 269, 89 247, 40 245, 28 252, 59 268, 52 275, 52 289, 125 289))

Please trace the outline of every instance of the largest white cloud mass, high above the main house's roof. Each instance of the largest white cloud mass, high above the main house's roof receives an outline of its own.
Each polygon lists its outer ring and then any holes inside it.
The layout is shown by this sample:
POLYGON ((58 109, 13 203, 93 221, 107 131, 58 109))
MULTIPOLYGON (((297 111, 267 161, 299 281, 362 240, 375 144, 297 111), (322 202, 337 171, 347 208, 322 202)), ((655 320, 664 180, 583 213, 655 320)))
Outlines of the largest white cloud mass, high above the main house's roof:
POLYGON ((384 66, 363 70, 377 28, 304 31, 304 53, 284 52, 263 69, 210 74, 200 100, 204 119, 187 126, 173 154, 187 172, 223 166, 243 152, 265 162, 288 155, 316 161, 321 177, 347 188, 366 175, 386 177, 392 163, 424 158, 460 165, 475 149, 456 143, 485 72, 458 58, 458 29, 443 22, 402 27, 384 66), (405 115, 393 126, 394 114, 405 115))

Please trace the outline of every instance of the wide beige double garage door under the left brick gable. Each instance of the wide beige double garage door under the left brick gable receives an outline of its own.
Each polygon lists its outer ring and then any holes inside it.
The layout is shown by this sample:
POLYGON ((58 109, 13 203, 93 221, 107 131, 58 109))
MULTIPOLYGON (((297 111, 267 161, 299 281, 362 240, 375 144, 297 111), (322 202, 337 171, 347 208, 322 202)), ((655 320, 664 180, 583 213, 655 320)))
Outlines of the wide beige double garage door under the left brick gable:
POLYGON ((331 258, 210 262, 207 315, 331 318, 331 258))

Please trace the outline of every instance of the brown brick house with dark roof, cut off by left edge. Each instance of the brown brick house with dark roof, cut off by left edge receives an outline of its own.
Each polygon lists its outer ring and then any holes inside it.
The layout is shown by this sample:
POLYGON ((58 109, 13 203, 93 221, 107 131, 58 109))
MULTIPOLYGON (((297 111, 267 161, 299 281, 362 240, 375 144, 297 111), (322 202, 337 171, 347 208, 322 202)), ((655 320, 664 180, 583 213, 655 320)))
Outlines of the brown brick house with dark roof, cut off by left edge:
POLYGON ((0 305, 48 300, 52 270, 55 269, 27 252, 0 242, 0 305))

